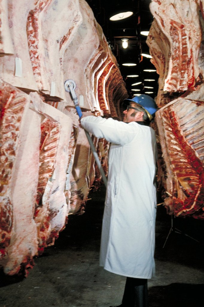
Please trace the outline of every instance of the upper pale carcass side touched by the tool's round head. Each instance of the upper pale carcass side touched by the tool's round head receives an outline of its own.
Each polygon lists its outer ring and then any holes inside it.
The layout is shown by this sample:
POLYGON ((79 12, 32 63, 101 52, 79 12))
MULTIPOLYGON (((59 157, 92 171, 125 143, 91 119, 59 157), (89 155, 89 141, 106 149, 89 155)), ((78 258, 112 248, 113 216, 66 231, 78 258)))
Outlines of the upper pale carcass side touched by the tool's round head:
MULTIPOLYGON (((80 0, 80 9, 82 14, 82 24, 66 49, 63 61, 64 80, 77 80, 76 91, 82 98, 81 106, 85 110, 94 111, 91 101, 90 87, 87 82, 87 67, 93 56, 97 56, 99 46, 98 33, 95 30, 95 18, 87 2, 80 0), (86 50, 86 52, 84 52, 86 50), (83 54, 83 56, 81 56, 83 54)), ((70 94, 66 92, 66 101, 73 105, 70 94)), ((70 106, 69 104, 69 106, 70 106)))

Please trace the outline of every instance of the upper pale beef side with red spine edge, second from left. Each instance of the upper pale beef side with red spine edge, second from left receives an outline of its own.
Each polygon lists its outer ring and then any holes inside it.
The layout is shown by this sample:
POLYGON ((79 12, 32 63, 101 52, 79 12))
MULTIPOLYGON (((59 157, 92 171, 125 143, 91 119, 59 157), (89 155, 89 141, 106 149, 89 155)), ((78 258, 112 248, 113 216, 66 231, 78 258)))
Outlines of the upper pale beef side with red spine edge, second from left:
POLYGON ((50 100, 56 100, 55 96, 65 99, 64 52, 81 23, 78 0, 36 1, 35 7, 29 11, 26 30, 33 74, 38 89, 50 95, 50 100))

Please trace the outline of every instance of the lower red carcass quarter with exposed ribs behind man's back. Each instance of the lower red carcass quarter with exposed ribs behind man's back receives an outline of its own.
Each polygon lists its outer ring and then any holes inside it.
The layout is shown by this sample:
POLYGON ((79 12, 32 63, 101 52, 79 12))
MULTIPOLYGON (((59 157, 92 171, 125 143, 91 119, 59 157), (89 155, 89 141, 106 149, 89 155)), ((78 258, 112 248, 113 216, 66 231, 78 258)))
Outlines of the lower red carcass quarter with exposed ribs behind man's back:
POLYGON ((167 167, 165 206, 169 214, 204 218, 203 115, 203 102, 190 99, 178 99, 157 112, 167 167))

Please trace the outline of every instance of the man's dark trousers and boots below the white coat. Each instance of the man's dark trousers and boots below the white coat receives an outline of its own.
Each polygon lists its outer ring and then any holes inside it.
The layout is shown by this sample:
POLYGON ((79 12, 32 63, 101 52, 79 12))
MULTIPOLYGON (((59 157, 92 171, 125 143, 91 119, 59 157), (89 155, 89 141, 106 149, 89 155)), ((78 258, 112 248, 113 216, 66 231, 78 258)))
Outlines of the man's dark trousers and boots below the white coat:
POLYGON ((127 277, 122 307, 148 307, 147 279, 127 277))

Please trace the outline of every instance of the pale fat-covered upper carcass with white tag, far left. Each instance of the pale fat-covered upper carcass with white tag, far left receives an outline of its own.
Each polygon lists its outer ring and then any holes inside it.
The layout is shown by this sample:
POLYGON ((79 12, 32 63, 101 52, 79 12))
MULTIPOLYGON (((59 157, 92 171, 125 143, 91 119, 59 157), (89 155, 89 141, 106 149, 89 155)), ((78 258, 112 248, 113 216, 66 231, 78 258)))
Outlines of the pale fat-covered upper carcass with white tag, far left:
MULTIPOLYGON (((5 2, 1 1, 1 4, 5 2)), ((3 27, 2 34, 3 39, 5 36, 7 39, 10 37, 13 52, 12 55, 0 57, 1 77, 15 87, 36 91, 38 87, 32 71, 26 31, 28 12, 34 7, 34 1, 8 0, 6 5, 8 6, 9 32, 7 33, 6 27, 3 27)))

